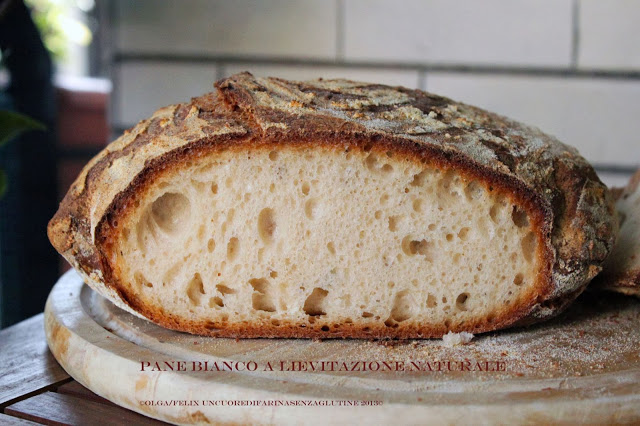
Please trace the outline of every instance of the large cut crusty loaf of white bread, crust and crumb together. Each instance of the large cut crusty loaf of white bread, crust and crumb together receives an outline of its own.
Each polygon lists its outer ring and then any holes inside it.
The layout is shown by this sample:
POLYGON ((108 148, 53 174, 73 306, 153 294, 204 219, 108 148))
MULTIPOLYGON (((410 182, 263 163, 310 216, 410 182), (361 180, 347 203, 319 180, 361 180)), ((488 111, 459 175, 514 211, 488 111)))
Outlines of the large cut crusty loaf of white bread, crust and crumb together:
POLYGON ((95 290, 225 337, 423 338, 561 312, 617 220, 578 152, 419 90, 249 73, 94 158, 49 225, 95 290))

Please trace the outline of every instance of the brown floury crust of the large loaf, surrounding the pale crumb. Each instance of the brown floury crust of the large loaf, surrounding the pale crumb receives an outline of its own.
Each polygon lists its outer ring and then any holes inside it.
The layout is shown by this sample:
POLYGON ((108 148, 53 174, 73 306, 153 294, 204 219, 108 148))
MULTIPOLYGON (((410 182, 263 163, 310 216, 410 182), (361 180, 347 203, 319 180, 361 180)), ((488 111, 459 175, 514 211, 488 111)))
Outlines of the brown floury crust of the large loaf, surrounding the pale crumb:
MULTIPOLYGON (((418 90, 347 80, 291 82, 241 73, 217 92, 157 111, 109 145, 82 171, 49 225, 54 247, 88 284, 118 306, 163 326, 236 337, 435 337, 444 327, 257 323, 212 329, 145 306, 118 282, 118 221, 157 176, 224 150, 279 146, 392 151, 455 169, 517 198, 535 224, 544 267, 528 303, 478 321, 483 332, 561 312, 600 271, 617 233, 611 196, 571 147, 504 117, 418 90)), ((454 331, 463 331, 454 330, 454 331)))

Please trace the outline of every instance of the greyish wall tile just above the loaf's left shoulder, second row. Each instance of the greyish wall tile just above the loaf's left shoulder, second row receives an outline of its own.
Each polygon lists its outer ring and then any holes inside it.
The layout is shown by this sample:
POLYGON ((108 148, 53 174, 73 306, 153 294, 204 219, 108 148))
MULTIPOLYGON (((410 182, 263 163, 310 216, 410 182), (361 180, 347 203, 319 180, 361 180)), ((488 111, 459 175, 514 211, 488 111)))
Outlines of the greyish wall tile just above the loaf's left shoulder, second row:
POLYGON ((115 69, 113 124, 129 127, 160 107, 214 90, 215 65, 124 63, 115 69))

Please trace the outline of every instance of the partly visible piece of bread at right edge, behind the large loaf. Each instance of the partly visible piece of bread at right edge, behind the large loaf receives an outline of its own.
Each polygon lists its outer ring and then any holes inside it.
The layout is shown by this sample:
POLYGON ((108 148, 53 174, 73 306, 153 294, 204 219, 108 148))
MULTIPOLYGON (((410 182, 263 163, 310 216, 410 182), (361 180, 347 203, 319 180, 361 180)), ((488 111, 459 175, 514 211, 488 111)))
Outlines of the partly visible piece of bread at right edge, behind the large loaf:
POLYGON ((620 234, 598 276, 598 286, 640 297, 640 170, 626 188, 613 191, 620 234))

